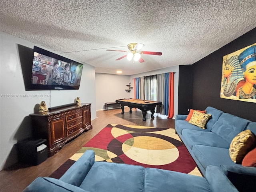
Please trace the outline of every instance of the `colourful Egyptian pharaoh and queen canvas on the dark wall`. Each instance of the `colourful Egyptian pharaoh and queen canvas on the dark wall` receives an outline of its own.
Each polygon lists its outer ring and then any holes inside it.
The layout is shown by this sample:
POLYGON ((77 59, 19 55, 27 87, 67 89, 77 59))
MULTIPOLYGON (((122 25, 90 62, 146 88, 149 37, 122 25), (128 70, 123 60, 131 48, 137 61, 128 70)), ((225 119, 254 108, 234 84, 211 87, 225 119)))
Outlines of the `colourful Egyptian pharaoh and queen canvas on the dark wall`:
POLYGON ((256 103, 256 43, 223 57, 220 97, 256 103))

